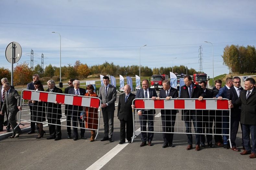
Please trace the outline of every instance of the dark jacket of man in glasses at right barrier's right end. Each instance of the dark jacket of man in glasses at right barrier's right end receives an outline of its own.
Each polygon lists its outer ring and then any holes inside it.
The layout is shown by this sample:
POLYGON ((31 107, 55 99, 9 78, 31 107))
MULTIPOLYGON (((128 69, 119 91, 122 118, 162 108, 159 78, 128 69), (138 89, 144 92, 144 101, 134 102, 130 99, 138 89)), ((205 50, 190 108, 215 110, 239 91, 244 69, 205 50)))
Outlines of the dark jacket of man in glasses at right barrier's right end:
MULTIPOLYGON (((244 89, 240 87, 240 90, 242 91, 244 89)), ((231 100, 232 104, 234 105, 234 107, 231 108, 231 118, 239 121, 241 116, 241 109, 239 109, 239 105, 235 104, 237 103, 239 97, 234 87, 231 87, 227 90, 227 99, 231 100)))

